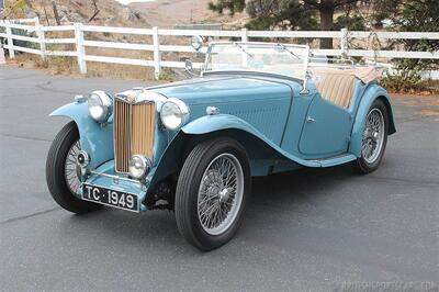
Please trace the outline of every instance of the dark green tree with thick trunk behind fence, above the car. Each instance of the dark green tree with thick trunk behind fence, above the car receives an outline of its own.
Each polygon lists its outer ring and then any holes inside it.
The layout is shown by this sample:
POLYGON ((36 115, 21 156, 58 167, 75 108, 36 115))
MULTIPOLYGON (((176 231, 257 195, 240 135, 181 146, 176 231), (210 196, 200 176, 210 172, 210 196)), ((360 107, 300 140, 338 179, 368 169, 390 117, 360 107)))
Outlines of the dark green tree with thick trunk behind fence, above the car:
MULTIPOLYGON (((227 10, 230 15, 246 9, 252 18, 247 24, 249 29, 281 26, 290 30, 319 27, 322 31, 331 31, 335 29, 335 12, 357 3, 358 0, 216 0, 210 2, 209 7, 218 13, 227 10)), ((349 20, 345 18, 345 22, 349 20)), ((358 19, 356 21, 358 22, 358 19)), ((320 48, 333 48, 333 40, 323 38, 320 48)))

